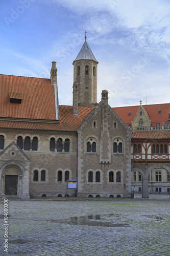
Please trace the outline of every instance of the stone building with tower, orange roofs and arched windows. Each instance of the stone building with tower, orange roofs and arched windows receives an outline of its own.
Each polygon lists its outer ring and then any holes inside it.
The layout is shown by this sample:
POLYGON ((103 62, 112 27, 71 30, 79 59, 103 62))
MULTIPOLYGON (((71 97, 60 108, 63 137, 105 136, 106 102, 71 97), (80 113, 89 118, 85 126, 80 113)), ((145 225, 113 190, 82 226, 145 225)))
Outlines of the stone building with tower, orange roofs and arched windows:
POLYGON ((96 102, 98 61, 86 37, 74 65, 73 106, 58 104, 56 62, 51 79, 0 75, 1 197, 68 195, 130 197, 131 131, 96 102))

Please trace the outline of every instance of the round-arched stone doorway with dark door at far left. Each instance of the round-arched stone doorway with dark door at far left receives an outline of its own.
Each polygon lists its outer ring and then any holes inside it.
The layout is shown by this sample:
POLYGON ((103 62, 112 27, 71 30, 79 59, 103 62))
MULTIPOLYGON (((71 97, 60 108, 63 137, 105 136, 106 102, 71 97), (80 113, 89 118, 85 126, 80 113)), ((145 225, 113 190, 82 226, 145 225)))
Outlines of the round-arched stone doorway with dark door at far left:
POLYGON ((9 165, 2 172, 2 194, 7 198, 21 198, 22 170, 16 165, 9 165))

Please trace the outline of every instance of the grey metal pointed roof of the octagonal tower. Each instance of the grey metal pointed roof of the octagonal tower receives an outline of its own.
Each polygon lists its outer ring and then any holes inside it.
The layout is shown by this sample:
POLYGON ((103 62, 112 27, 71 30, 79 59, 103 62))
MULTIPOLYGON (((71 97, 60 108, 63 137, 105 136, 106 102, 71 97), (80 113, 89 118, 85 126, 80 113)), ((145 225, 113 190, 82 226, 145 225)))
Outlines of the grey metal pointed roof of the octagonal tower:
POLYGON ((92 53, 89 45, 87 44, 86 36, 85 36, 85 42, 74 61, 80 60, 80 59, 91 59, 91 60, 98 62, 98 60, 96 60, 96 58, 94 57, 94 54, 92 53))

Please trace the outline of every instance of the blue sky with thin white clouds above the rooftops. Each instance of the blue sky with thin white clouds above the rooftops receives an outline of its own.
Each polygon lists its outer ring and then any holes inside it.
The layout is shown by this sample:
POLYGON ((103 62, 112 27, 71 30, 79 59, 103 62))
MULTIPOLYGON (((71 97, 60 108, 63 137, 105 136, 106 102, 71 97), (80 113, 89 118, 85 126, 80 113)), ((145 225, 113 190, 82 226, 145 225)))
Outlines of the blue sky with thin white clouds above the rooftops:
POLYGON ((87 42, 98 64, 98 102, 169 103, 169 0, 1 0, 0 73, 50 78, 72 105, 73 65, 87 42))

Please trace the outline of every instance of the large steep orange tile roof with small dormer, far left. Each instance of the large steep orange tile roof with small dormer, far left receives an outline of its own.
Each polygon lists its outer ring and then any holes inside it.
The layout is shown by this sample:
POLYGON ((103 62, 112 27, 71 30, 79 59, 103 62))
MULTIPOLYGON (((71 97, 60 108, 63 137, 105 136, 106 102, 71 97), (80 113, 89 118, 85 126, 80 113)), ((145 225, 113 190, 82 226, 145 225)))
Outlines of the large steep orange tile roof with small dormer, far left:
POLYGON ((0 75, 0 87, 1 117, 56 118, 54 86, 50 79, 0 75), (22 103, 9 103, 9 93, 12 98, 20 94, 22 103))

